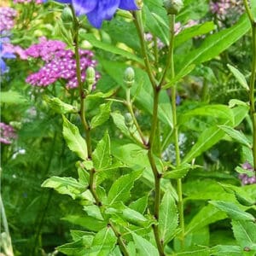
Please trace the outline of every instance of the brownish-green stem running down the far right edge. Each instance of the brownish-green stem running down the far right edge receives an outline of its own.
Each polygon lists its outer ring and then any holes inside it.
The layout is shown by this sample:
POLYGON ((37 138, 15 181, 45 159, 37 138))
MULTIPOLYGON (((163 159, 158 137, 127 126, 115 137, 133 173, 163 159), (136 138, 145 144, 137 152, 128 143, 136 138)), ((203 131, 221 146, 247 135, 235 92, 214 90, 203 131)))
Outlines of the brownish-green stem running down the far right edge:
POLYGON ((243 0, 244 6, 247 10, 247 16, 252 26, 252 40, 253 40, 253 61, 252 61, 252 73, 249 84, 249 100, 250 100, 250 117, 253 123, 253 169, 256 172, 256 112, 255 112, 255 79, 256 79, 256 20, 253 19, 253 14, 247 0, 243 0))

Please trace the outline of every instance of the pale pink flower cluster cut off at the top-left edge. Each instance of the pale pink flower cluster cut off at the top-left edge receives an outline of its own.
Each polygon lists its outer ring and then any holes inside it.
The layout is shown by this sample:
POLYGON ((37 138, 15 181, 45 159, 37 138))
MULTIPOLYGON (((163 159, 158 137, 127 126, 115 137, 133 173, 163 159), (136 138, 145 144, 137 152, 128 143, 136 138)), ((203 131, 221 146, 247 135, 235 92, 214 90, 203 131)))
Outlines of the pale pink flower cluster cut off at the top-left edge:
POLYGON ((0 7, 0 33, 7 32, 15 26, 17 12, 10 7, 0 7))

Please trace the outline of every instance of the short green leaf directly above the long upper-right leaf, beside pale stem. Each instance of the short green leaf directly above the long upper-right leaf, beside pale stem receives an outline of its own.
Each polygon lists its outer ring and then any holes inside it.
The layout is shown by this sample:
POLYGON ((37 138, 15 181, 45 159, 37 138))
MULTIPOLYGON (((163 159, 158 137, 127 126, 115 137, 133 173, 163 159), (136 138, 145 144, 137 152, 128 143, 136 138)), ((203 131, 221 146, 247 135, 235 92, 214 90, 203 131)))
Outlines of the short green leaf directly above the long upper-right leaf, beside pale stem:
POLYGON ((174 39, 174 46, 177 47, 180 44, 187 42, 190 38, 194 38, 211 32, 214 27, 215 25, 212 21, 207 21, 203 24, 188 27, 177 34, 174 39))

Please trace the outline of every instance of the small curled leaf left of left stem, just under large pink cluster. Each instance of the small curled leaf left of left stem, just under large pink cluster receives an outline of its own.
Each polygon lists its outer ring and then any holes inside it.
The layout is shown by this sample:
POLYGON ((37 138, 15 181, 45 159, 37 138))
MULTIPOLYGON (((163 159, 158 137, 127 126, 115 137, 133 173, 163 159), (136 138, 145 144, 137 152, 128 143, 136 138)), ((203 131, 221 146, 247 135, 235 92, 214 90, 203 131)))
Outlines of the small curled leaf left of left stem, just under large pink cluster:
POLYGON ((55 113, 78 113, 79 110, 72 105, 62 102, 57 97, 44 96, 45 102, 48 103, 49 108, 51 108, 55 113))

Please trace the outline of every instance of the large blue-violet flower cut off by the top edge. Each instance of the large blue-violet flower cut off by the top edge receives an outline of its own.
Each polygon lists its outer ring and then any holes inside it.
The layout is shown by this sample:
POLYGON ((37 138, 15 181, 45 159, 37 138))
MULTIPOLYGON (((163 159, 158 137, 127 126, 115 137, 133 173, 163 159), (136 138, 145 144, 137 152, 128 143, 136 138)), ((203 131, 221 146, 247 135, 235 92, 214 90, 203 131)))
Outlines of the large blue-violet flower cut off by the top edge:
POLYGON ((60 3, 72 3, 76 15, 86 15, 90 24, 96 28, 103 20, 111 20, 116 10, 137 10, 136 0, 55 0, 60 3))

